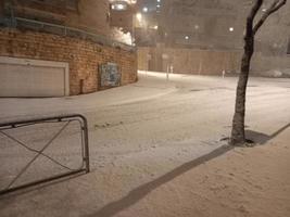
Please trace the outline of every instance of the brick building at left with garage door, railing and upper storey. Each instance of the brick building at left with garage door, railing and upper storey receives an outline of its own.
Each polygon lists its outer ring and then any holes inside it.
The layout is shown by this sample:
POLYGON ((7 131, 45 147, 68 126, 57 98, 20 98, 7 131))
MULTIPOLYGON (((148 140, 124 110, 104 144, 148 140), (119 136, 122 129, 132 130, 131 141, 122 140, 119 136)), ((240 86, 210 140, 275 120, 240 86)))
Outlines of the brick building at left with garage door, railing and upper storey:
POLYGON ((136 81, 136 49, 114 37, 110 22, 109 0, 2 0, 0 97, 75 95, 136 81))

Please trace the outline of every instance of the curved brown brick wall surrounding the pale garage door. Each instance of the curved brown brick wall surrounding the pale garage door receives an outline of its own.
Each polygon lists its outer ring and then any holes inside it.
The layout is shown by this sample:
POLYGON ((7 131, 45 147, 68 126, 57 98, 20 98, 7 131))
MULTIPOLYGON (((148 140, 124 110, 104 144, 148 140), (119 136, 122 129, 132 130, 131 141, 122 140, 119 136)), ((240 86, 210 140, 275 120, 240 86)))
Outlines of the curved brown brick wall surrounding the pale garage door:
POLYGON ((0 30, 0 55, 67 62, 72 95, 81 92, 81 79, 84 79, 84 93, 99 89, 98 66, 101 63, 118 64, 122 72, 122 85, 137 80, 136 52, 100 46, 77 38, 2 28, 0 30))

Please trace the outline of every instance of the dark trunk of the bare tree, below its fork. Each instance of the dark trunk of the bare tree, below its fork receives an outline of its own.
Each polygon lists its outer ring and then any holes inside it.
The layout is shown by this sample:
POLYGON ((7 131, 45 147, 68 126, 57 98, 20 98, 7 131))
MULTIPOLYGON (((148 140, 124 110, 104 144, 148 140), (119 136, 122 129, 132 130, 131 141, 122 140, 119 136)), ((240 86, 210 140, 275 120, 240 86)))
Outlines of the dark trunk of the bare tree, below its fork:
POLYGON ((244 38, 244 52, 241 62, 241 73, 239 76, 237 93, 236 93, 236 106, 232 120, 232 129, 230 143, 234 145, 242 145, 245 143, 244 136, 244 114, 245 114, 245 93, 250 73, 250 63, 254 50, 254 37, 253 35, 244 38))

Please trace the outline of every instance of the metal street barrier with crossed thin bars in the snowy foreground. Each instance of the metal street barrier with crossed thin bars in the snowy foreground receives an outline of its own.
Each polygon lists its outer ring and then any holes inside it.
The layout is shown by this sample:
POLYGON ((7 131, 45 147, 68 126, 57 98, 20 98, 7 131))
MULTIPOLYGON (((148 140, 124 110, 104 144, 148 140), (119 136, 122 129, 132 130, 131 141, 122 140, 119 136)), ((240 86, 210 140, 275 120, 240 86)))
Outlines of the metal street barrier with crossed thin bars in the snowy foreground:
POLYGON ((89 173, 83 115, 0 124, 0 194, 89 173))

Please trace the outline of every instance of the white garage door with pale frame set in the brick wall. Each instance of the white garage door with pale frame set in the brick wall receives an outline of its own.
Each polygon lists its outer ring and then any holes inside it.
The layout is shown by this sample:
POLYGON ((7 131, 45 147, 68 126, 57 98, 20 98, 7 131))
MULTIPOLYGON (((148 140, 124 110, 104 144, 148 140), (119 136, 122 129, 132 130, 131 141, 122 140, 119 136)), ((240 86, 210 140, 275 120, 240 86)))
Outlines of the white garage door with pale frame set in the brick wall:
POLYGON ((68 64, 0 56, 0 97, 70 94, 68 64))

